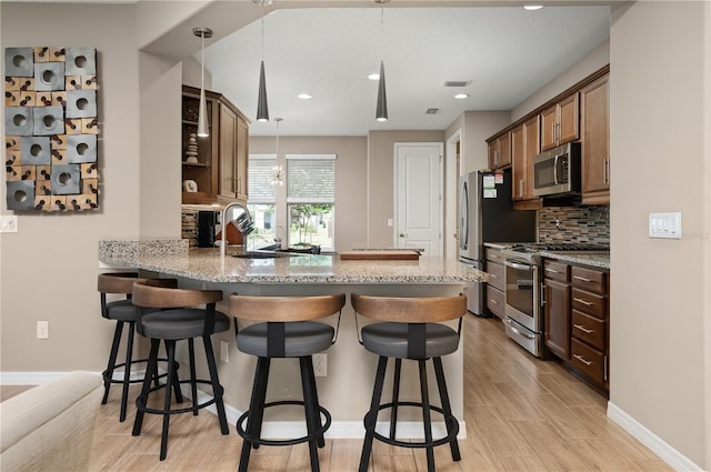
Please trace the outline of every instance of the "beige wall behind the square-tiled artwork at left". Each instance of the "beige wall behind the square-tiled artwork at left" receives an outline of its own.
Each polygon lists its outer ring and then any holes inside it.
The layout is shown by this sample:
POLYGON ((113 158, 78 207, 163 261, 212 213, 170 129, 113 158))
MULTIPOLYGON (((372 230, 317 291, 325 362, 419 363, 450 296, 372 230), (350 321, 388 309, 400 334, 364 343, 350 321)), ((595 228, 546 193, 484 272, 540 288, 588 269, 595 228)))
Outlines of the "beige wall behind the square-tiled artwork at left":
MULTIPOLYGON (((98 241, 140 233, 139 64, 127 41, 134 7, 2 2, 0 9, 3 47, 97 48, 101 177, 98 211, 18 213, 19 232, 0 234, 2 372, 101 371, 113 323, 99 311, 98 241), (36 339, 38 320, 49 321, 49 340, 36 339)), ((3 209, 4 189, 2 182, 3 209)))

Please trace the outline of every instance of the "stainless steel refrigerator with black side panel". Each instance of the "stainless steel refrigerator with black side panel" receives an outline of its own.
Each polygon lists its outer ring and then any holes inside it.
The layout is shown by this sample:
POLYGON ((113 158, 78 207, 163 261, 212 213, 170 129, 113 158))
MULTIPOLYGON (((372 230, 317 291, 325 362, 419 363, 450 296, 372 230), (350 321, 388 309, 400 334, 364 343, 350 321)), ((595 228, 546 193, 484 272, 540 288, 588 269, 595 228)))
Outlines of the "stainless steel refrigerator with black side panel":
MULTIPOLYGON (((511 170, 475 171, 459 180, 459 260, 485 271, 484 242, 532 242, 537 212, 513 210, 511 170)), ((485 283, 468 287, 468 309, 485 317, 485 283)))

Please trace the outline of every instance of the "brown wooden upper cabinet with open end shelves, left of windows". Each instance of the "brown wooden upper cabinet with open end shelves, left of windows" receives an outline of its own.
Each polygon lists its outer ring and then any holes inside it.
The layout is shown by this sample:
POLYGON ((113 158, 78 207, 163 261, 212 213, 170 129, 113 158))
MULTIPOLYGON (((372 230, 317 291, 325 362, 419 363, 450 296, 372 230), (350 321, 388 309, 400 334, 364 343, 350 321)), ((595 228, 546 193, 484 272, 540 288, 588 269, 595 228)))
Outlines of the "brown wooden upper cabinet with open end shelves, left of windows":
POLYGON ((220 93, 207 90, 206 99, 210 135, 191 142, 191 134, 198 132, 200 89, 183 86, 182 203, 246 201, 249 120, 220 93), (197 162, 188 162, 188 151, 196 143, 197 162))

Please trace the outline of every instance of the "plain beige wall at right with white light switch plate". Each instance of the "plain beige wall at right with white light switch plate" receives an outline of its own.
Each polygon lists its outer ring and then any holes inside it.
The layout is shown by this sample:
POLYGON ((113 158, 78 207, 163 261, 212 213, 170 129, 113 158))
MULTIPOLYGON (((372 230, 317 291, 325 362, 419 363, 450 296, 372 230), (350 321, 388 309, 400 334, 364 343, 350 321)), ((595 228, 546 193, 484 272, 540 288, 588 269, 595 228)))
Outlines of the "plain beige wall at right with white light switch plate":
POLYGON ((610 401, 707 470, 708 10, 637 2, 610 36, 610 401), (682 239, 649 239, 648 214, 675 211, 682 239))

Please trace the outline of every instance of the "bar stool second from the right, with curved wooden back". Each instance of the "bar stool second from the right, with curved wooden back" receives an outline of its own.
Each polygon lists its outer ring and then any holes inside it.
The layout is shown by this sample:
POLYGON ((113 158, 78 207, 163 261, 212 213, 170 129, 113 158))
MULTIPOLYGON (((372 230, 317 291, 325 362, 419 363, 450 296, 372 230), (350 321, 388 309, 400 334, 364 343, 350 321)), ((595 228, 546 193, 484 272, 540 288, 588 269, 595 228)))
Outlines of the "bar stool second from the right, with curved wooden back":
POLYGON ((313 373, 312 354, 326 351, 336 342, 341 309, 346 295, 321 297, 246 297, 230 295, 230 314, 240 320, 258 321, 242 330, 237 329, 237 348, 256 355, 257 370, 249 410, 237 421, 237 432, 242 436, 239 472, 247 472, 252 448, 259 445, 292 445, 309 443, 311 471, 319 471, 317 448, 323 448, 323 433, 331 425, 331 414, 319 404, 313 373), (337 329, 313 320, 339 314, 337 329), (273 358, 298 358, 301 371, 303 401, 266 402, 270 362, 273 358), (288 440, 261 438, 264 409, 270 406, 303 405, 307 435, 288 440), (323 421, 321 421, 323 416, 323 421), (247 428, 243 426, 247 420, 247 428))

